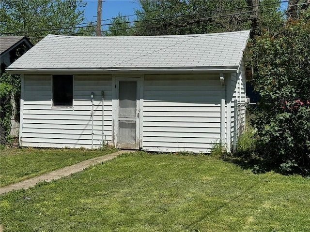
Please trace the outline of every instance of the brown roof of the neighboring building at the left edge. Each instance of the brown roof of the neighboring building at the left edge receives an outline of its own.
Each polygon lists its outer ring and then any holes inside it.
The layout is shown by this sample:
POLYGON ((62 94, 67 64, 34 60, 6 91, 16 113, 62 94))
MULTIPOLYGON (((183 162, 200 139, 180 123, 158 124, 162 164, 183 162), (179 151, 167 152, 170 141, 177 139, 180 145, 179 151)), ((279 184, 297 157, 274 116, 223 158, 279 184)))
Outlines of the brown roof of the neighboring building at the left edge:
POLYGON ((29 48, 33 46, 26 36, 0 36, 0 54, 3 55, 9 52, 23 42, 26 43, 29 48))

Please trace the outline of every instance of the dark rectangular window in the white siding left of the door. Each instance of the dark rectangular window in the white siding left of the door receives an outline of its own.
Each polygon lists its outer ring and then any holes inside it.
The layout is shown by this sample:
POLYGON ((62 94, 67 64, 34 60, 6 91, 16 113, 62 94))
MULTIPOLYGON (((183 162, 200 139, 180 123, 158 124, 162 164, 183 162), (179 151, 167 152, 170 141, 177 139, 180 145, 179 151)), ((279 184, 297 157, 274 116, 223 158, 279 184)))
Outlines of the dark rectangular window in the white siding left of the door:
POLYGON ((53 106, 72 106, 73 75, 53 75, 53 106))

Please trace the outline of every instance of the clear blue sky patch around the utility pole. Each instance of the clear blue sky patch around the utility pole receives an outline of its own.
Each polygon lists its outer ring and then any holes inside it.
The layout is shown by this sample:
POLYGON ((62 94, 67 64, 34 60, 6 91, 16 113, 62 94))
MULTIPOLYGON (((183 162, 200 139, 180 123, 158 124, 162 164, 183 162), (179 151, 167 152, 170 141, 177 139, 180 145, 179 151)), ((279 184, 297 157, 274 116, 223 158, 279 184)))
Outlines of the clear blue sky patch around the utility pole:
MULTIPOLYGON (((87 3, 85 8, 85 22, 94 22, 97 20, 97 2, 98 0, 83 0, 87 3)), ((134 9, 139 9, 139 0, 103 0, 101 19, 109 19, 117 16, 118 13, 124 15, 135 14, 134 9)), ((134 19, 131 16, 130 19, 134 19)), ((110 20, 103 21, 102 24, 109 23, 110 20)), ((107 27, 103 27, 105 29, 107 27)))

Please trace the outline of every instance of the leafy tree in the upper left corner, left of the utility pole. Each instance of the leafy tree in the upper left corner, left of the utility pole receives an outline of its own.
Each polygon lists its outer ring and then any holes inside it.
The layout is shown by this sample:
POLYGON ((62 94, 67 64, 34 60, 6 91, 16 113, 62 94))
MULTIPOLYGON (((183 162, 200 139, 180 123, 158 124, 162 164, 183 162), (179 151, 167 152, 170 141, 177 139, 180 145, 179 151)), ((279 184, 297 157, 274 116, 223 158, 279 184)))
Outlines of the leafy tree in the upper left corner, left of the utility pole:
POLYGON ((84 20, 86 6, 82 0, 1 0, 0 4, 0 33, 25 35, 32 43, 47 34, 78 32, 75 26, 84 20))

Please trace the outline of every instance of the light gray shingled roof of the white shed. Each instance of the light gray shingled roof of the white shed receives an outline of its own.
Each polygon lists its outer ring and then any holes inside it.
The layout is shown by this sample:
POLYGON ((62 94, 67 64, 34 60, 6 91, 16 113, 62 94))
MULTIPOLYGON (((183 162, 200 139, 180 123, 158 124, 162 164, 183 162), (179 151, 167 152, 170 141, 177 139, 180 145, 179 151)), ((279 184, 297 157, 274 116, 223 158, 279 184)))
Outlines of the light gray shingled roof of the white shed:
POLYGON ((47 35, 9 70, 236 70, 248 37, 249 31, 124 37, 47 35))

